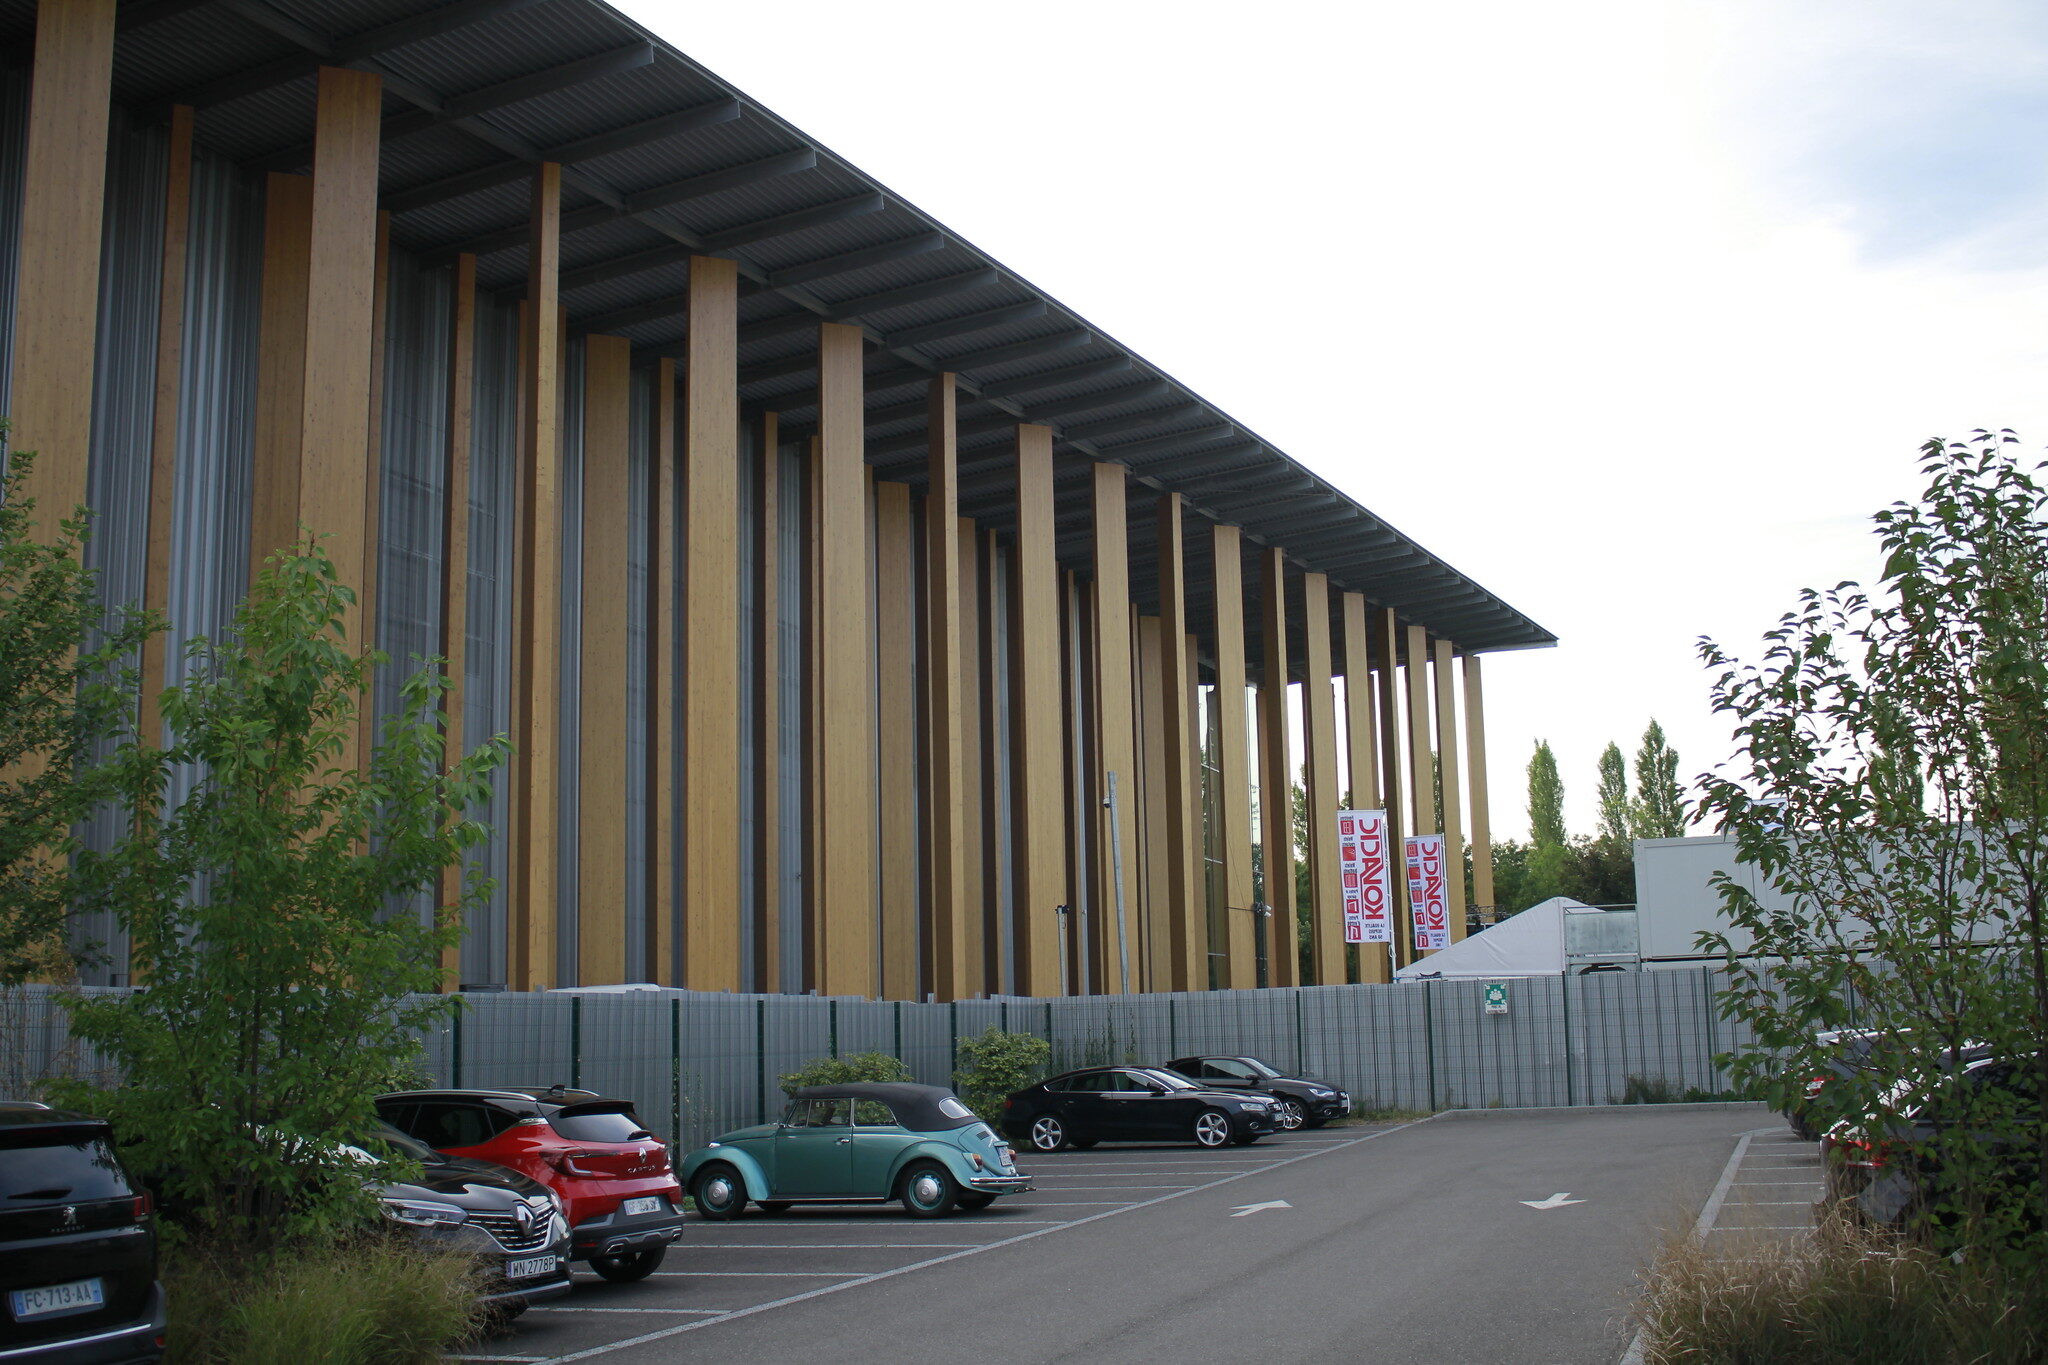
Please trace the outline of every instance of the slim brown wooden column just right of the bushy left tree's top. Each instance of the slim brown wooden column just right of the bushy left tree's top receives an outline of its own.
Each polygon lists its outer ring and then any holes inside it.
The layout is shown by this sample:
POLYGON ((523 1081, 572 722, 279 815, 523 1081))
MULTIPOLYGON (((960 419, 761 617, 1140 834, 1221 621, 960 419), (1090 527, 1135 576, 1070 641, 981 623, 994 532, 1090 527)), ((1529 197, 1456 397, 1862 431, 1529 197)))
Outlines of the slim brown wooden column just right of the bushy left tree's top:
MULTIPOLYGON (((449 430, 440 458, 440 657, 449 690, 440 694, 440 761, 453 767, 467 753, 463 718, 469 698, 469 448, 477 417, 477 258, 455 258, 449 301, 449 430)), ((440 905, 463 896, 465 862, 440 870, 440 905)), ((463 945, 440 954, 444 990, 461 984, 463 945)))

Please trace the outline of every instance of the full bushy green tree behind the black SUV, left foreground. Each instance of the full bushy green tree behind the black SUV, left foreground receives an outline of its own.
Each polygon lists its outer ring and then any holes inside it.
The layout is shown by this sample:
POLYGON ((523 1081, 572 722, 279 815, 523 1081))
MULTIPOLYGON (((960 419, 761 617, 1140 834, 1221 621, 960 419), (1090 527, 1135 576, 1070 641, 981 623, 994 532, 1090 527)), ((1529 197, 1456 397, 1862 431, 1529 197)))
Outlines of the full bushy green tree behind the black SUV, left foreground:
POLYGON ((193 681, 164 694, 172 747, 121 751, 147 796, 90 860, 143 980, 72 1005, 76 1036, 127 1078, 92 1103, 168 1209, 248 1248, 365 1209, 365 1171, 330 1177, 334 1148, 371 1130, 371 1097, 453 1007, 430 995, 438 956, 489 890, 471 876, 424 923, 395 909, 483 839, 463 812, 506 743, 442 772, 446 679, 426 665, 369 763, 348 761, 381 663, 344 641, 352 602, 317 544, 272 557, 233 636, 195 641, 193 681), (201 774, 178 804, 174 767, 201 774))

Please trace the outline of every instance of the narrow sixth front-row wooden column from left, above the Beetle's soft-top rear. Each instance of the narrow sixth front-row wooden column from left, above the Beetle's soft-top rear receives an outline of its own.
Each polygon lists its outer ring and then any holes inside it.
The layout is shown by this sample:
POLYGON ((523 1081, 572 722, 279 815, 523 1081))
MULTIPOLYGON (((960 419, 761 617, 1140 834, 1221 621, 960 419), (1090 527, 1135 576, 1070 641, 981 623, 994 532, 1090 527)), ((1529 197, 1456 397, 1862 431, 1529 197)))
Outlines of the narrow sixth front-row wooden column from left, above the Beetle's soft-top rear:
POLYGON ((924 489, 924 976, 940 1001, 967 990, 967 782, 961 733, 958 391, 936 375, 924 489))

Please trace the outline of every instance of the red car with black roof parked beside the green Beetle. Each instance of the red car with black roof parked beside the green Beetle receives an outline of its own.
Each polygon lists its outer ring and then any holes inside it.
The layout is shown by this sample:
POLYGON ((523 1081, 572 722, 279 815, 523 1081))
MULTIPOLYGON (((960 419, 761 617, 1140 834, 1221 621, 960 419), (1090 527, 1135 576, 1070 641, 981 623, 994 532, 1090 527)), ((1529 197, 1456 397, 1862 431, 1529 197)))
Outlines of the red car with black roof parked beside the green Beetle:
POLYGON ((631 1099, 594 1091, 401 1091, 377 1115, 436 1152, 494 1160, 561 1197, 569 1259, 610 1281, 645 1279, 682 1236, 682 1185, 631 1099))

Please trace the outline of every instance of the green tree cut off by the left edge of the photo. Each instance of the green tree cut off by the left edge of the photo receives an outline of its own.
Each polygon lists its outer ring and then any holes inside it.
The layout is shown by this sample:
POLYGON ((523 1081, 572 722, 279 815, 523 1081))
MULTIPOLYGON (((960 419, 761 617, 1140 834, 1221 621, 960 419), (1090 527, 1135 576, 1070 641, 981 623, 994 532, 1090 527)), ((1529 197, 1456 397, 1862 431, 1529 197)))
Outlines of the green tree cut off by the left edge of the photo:
POLYGON ((131 726, 127 659, 154 628, 100 602, 84 508, 55 540, 35 538, 23 495, 33 465, 14 450, 0 475, 0 986, 72 970, 66 921, 84 894, 74 831, 119 798, 104 753, 131 726))

